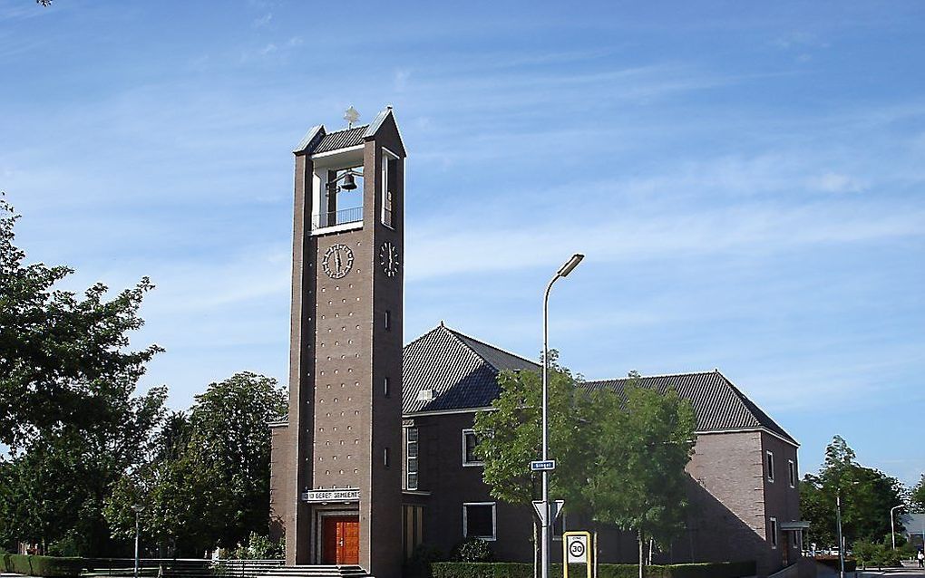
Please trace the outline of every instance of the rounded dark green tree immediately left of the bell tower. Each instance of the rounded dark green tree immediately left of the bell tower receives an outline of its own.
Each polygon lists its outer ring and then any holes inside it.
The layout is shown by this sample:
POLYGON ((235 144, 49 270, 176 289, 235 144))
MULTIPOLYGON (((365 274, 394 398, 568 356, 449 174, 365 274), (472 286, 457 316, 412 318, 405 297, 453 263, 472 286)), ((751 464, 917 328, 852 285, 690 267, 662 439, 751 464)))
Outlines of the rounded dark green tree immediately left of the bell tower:
POLYGON ((164 553, 201 555, 265 535, 269 520, 270 431, 286 412, 277 381, 240 373, 210 384, 189 418, 175 413, 157 437, 154 461, 119 481, 106 505, 117 535, 134 532, 131 505, 164 553))

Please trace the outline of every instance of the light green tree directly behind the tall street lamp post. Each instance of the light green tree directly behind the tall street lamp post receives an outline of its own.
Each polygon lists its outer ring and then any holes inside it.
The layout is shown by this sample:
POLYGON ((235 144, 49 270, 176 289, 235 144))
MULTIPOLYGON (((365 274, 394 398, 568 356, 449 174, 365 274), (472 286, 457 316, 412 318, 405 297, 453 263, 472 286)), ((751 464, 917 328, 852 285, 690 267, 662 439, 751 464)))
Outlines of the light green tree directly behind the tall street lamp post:
MULTIPOLYGON (((549 352, 549 458, 556 471, 549 479, 550 499, 564 499, 569 511, 586 510, 581 487, 593 462, 588 448, 594 435, 595 407, 575 377, 549 352)), ((492 409, 475 416, 476 453, 485 461, 483 479, 491 495, 529 506, 542 498, 541 475, 530 461, 542 456, 542 377, 531 371, 502 372, 501 395, 492 409)), ((538 521, 534 518, 534 544, 538 521)))

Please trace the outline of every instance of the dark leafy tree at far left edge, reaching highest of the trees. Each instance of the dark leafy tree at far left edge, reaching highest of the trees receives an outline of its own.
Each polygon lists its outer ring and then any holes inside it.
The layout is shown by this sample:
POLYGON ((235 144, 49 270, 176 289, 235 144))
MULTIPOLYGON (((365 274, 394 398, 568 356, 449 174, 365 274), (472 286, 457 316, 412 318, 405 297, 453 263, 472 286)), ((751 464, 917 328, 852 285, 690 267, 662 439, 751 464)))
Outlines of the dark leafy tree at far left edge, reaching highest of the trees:
POLYGON ((129 411, 131 394, 156 345, 128 350, 129 332, 147 277, 111 301, 102 283, 82 299, 56 284, 73 269, 24 264, 14 245, 13 207, 0 197, 0 443, 14 452, 44 433, 70 426, 113 424, 129 411))

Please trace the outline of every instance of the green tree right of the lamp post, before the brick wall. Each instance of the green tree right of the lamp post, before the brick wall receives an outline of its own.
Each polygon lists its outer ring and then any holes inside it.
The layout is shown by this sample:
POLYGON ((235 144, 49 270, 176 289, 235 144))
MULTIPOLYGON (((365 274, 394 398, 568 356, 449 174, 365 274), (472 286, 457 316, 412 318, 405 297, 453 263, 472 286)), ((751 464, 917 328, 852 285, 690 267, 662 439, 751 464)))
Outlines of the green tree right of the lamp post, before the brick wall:
POLYGON ((633 383, 625 394, 622 407, 611 401, 607 408, 585 492, 598 522, 635 532, 641 577, 646 542, 667 547, 684 528, 695 417, 673 389, 662 394, 633 383))

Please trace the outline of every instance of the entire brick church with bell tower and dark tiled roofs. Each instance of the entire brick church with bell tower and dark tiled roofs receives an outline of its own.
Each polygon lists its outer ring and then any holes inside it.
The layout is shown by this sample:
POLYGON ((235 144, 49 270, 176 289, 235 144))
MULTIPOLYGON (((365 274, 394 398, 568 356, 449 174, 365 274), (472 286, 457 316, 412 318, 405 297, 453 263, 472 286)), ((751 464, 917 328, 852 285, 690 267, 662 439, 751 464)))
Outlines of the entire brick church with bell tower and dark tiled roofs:
MULTIPOLYGON (((404 144, 391 107, 368 125, 352 126, 352 108, 345 118, 293 151, 290 402, 271 424, 270 480, 286 564, 398 578, 415 547, 449 553, 472 537, 497 560, 530 561, 532 511, 490 497, 472 427, 499 372, 538 366, 442 322, 402 346, 404 144)), ((697 415, 690 520, 662 561, 757 560, 759 575, 795 562, 796 440, 719 371, 642 385, 674 387, 697 415)), ((583 523, 566 513, 556 534, 583 523)), ((615 529, 599 551, 601 562, 636 556, 615 529)))

